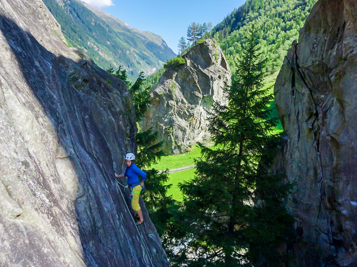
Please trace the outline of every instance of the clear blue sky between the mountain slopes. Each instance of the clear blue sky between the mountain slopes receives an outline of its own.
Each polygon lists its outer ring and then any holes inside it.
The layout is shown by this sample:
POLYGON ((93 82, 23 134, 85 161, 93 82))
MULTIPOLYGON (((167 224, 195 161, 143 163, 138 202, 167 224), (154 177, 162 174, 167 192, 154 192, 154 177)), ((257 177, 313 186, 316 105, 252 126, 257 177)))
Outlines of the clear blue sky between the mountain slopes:
POLYGON ((122 1, 122 0, 82 0, 100 7, 115 17, 124 20, 131 27, 151 31, 164 38, 167 45, 177 53, 181 36, 186 38, 187 26, 191 22, 221 22, 234 8, 245 0, 197 1, 122 1))

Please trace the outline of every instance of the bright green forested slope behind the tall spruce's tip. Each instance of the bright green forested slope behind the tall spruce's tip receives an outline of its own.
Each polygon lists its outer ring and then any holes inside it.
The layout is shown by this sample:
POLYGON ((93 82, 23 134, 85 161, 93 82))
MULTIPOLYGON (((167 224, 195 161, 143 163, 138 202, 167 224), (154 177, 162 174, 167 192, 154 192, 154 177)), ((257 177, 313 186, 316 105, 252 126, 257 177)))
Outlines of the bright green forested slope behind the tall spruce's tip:
POLYGON ((247 0, 221 23, 213 28, 213 36, 220 46, 230 67, 242 51, 247 29, 255 24, 261 36, 263 57, 267 58, 266 70, 274 73, 280 69, 293 40, 297 40, 316 0, 247 0))

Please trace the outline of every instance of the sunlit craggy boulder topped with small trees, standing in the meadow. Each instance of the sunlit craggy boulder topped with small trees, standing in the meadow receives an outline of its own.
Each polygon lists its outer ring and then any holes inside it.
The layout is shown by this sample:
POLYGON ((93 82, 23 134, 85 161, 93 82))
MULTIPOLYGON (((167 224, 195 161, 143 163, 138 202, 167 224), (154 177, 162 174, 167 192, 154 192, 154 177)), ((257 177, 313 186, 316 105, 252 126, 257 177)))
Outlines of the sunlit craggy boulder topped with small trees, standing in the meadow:
POLYGON ((225 103, 223 86, 230 84, 231 70, 213 40, 194 46, 183 58, 185 64, 166 69, 151 89, 151 106, 140 123, 154 128, 164 141, 166 154, 185 152, 207 136, 207 112, 213 101, 225 103))

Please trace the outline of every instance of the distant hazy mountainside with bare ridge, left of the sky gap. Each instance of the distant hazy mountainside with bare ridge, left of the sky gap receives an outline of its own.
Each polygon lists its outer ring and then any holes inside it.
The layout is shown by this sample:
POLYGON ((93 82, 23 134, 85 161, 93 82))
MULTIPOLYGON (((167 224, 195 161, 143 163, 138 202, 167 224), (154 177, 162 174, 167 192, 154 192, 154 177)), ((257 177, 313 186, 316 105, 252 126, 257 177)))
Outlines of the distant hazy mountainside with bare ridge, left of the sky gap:
POLYGON ((113 29, 78 0, 44 3, 60 23, 69 45, 82 48, 104 69, 122 64, 129 75, 137 77, 142 70, 155 72, 175 56, 165 42, 159 46, 138 31, 113 29))

